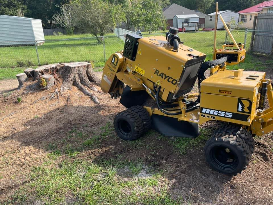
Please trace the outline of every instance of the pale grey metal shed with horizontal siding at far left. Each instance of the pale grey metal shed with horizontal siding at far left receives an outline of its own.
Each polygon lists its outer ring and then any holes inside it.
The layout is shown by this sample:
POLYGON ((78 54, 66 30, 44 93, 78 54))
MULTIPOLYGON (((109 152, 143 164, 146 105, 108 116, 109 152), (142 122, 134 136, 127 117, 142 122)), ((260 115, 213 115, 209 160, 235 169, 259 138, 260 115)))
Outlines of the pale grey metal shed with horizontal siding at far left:
POLYGON ((42 20, 0 15, 0 46, 44 44, 42 20))

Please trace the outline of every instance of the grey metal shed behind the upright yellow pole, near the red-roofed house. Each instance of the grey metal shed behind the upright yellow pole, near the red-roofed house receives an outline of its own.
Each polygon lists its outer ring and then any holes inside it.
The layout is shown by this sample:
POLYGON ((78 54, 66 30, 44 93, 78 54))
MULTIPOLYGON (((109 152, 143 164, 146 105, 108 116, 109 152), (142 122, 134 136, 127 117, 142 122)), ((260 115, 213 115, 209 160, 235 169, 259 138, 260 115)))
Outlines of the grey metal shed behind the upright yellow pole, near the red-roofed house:
MULTIPOLYGON (((223 17, 224 21, 227 23, 229 22, 232 18, 236 21, 236 24, 238 24, 239 21, 239 13, 231 10, 226 10, 226 11, 219 11, 221 16, 223 17)), ((208 14, 205 16, 205 28, 214 28, 215 24, 215 12, 208 14)), ((217 21, 217 29, 224 29, 224 24, 220 17, 218 16, 218 21, 217 21)))

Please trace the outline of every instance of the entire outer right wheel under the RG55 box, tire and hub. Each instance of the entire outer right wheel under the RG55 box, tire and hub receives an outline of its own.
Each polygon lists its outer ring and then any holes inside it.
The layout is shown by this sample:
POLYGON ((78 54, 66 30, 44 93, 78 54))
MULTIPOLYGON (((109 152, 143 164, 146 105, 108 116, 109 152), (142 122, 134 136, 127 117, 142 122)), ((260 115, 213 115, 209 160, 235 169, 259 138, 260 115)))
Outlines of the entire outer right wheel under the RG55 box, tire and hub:
POLYGON ((246 130, 226 125, 216 130, 204 147, 210 167, 218 172, 236 175, 247 168, 251 151, 243 138, 246 130))

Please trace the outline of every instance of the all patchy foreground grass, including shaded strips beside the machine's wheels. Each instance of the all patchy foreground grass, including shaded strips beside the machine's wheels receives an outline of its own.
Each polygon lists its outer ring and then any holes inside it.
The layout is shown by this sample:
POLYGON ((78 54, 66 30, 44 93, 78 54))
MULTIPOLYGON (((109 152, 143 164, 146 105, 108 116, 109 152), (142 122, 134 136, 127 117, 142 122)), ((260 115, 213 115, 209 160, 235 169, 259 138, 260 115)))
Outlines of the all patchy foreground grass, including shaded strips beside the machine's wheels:
MULTIPOLYGON (((199 147, 208 138, 209 130, 202 129, 195 139, 176 138, 166 142, 173 144, 180 153, 199 147)), ((87 136, 79 128, 67 132, 63 147, 49 143, 47 160, 34 167, 27 175, 28 182, 1 204, 190 204, 183 198, 173 199, 168 192, 167 179, 160 170, 145 165, 141 157, 129 160, 123 154, 113 157, 82 159, 79 154, 86 148, 98 146, 101 140, 110 140, 114 129, 111 122, 102 126, 93 136, 87 136), (111 136, 111 137, 110 137, 111 136), (88 138, 88 139, 86 139, 88 138), (78 140, 77 146, 73 140, 78 140)), ((146 137, 158 135, 149 131, 146 137)), ((160 138, 165 138, 161 136, 160 138)), ((156 138, 155 138, 156 140, 156 138)), ((129 143, 136 149, 153 149, 141 138, 129 143), (140 145, 136 147, 135 145, 140 145)), ((156 147, 160 149, 160 147, 156 147)), ((166 170, 165 170, 166 171, 166 170)))

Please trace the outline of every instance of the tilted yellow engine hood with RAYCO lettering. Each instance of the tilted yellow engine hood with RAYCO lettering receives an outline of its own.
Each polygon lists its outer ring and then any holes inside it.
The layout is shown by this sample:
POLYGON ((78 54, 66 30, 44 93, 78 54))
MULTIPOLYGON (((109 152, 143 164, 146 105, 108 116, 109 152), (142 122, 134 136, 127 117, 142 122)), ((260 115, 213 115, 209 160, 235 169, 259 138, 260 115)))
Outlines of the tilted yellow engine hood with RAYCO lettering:
POLYGON ((179 94, 179 89, 183 90, 179 86, 183 84, 181 81, 185 80, 181 78, 182 75, 185 74, 188 78, 197 76, 198 69, 206 58, 205 54, 183 44, 179 45, 179 52, 173 52, 173 47, 167 44, 164 36, 140 38, 138 43, 135 61, 126 59, 127 71, 147 85, 153 82, 161 86, 164 89, 164 101, 171 101, 172 97, 179 94), (193 74, 188 75, 189 69, 193 74))

